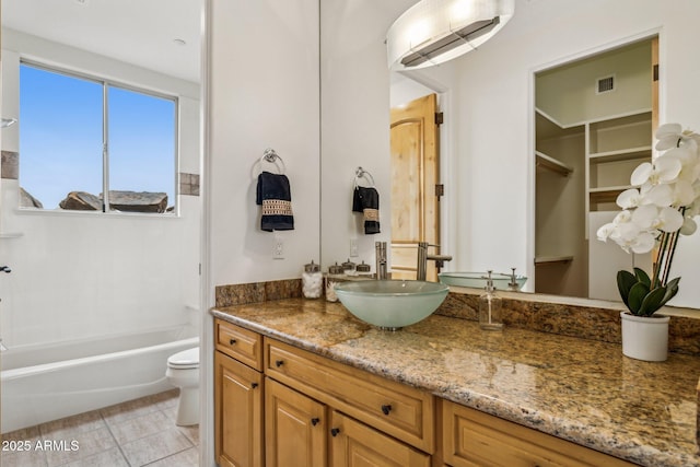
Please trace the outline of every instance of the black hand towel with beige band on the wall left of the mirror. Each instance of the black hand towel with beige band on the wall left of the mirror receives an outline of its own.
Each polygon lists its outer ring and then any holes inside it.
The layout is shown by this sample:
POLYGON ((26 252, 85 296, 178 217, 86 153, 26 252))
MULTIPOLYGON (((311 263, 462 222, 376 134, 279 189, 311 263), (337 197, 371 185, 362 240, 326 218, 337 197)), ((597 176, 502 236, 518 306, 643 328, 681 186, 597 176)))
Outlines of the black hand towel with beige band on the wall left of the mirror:
POLYGON ((256 203, 262 206, 261 230, 266 232, 294 230, 292 191, 287 175, 260 173, 256 203))

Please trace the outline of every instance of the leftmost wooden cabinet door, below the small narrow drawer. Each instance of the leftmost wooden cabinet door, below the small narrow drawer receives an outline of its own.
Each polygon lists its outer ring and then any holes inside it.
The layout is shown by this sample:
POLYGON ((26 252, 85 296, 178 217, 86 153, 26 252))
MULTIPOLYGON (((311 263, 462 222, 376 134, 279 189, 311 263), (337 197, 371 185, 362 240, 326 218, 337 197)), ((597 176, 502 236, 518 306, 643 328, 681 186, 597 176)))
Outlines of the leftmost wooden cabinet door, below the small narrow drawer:
POLYGON ((261 467, 262 374, 214 352, 214 450, 222 467, 261 467))

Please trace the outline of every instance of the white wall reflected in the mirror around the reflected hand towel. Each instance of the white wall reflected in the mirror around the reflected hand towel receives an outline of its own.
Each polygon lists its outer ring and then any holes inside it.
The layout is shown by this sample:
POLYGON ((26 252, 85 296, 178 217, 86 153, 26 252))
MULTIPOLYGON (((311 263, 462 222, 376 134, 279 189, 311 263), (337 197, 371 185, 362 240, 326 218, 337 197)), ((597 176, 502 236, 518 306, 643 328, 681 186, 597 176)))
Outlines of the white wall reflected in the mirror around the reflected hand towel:
MULTIPOLYGON (((374 270, 374 243, 390 241, 389 75, 384 39, 415 1, 324 0, 322 13, 322 258, 345 261, 350 240, 374 270), (372 174, 380 194, 381 233, 365 235, 352 213, 354 171, 372 174)), ((389 258, 390 262, 390 258, 389 258)))

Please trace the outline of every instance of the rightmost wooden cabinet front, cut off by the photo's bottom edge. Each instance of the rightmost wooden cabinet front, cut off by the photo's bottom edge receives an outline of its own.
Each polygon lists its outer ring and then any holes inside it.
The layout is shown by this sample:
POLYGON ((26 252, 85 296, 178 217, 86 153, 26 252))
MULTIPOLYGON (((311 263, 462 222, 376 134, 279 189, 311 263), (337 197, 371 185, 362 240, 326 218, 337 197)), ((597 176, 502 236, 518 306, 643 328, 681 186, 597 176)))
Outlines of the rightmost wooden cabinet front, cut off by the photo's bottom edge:
POLYGON ((454 467, 633 465, 458 404, 440 404, 443 457, 454 467))

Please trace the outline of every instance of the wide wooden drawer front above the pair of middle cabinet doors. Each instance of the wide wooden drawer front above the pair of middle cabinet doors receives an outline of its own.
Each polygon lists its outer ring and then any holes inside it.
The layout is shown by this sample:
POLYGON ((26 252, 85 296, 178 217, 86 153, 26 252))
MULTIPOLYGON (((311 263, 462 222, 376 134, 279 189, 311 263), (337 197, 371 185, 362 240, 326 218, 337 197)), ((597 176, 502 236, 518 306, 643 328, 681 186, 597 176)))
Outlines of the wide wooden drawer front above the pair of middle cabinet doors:
POLYGON ((431 394, 265 339, 265 373, 311 397, 434 453, 431 394))

